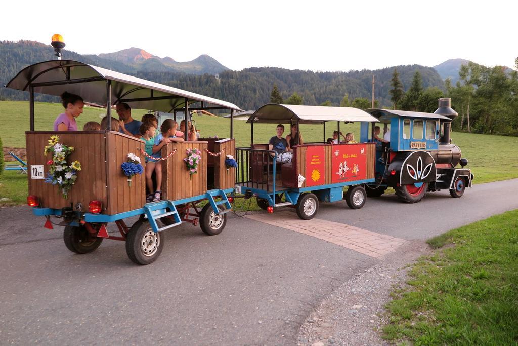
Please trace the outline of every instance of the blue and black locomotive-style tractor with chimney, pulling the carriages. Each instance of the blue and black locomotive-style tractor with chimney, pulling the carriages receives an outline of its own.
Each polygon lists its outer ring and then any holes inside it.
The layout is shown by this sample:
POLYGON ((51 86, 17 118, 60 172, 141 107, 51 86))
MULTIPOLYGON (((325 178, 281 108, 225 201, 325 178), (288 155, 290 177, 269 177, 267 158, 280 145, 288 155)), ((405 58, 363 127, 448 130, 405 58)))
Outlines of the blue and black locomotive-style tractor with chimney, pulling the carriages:
POLYGON ((392 109, 367 109, 379 123, 361 123, 361 141, 373 140, 373 127, 389 133, 389 143, 376 146, 376 182, 366 184, 367 196, 379 197, 388 187, 404 202, 415 203, 428 191, 447 189, 462 197, 471 187, 473 173, 461 158, 461 149, 451 143, 451 122, 457 116, 450 99, 439 99, 435 113, 392 109), (458 167, 458 164, 461 167, 458 167))

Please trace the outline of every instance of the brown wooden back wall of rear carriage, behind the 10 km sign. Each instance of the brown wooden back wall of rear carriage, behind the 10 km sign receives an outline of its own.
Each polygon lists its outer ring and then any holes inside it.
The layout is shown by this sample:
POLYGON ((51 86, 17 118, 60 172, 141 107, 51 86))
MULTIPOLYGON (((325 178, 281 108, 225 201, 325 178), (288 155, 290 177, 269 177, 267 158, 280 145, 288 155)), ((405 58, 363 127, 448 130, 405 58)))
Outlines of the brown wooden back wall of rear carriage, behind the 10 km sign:
POLYGON ((104 165, 105 152, 104 132, 74 131, 74 132, 26 132, 27 166, 42 165, 45 176, 48 173, 47 161, 52 154, 44 155, 44 148, 48 145, 51 135, 59 136, 59 143, 73 146, 74 153, 68 157, 68 164, 75 160, 81 162, 81 171, 77 173, 75 185, 68 191, 68 198, 63 198, 61 189, 57 185, 45 183, 44 179, 33 179, 28 174, 28 193, 39 198, 40 205, 53 209, 74 206, 82 203, 88 209, 91 200, 100 200, 103 206, 107 205, 106 171, 104 165), (103 164, 100 164, 100 163, 103 164))

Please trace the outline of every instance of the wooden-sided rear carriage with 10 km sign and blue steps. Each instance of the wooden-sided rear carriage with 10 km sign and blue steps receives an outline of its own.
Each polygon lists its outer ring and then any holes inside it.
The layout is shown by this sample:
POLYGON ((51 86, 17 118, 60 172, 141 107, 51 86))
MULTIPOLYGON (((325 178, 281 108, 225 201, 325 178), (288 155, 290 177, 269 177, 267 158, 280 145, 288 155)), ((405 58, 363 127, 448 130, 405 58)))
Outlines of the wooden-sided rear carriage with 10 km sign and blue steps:
MULTIPOLYGON (((174 113, 181 110, 231 109, 232 103, 168 87, 89 64, 52 60, 24 68, 7 84, 8 88, 30 92, 30 130, 26 132, 28 174, 27 202, 35 215, 51 216, 65 226, 64 242, 70 251, 89 253, 103 239, 126 242, 128 257, 137 264, 153 262, 164 247, 162 231, 182 222, 198 223, 209 234, 220 233, 231 211, 227 194, 234 190, 235 175, 228 174, 225 156, 234 155, 235 142, 231 117, 231 138, 199 139, 197 142, 171 143, 162 148, 163 200, 146 203, 145 175, 128 179, 121 165, 128 154, 143 163, 144 143, 135 137, 108 131, 34 131, 34 93, 60 95, 64 91, 79 94, 85 101, 106 105, 108 122, 112 105, 125 102, 134 109, 174 113), (191 107, 196 104, 196 107, 191 107), (50 137, 57 135, 51 139, 50 137), (46 146, 74 147, 67 164, 81 163, 75 184, 62 193, 60 184, 46 182, 49 159, 46 146), (184 158, 187 149, 198 149, 201 160, 196 174, 190 174, 184 158), (131 181, 130 181, 131 180, 131 181), (202 208, 201 202, 206 202, 202 208), (207 203, 208 202, 208 203, 207 203), (124 222, 139 216, 131 227, 124 222), (109 234, 107 223, 115 223, 120 236, 109 234)), ((110 124, 108 124, 110 128, 110 124)))

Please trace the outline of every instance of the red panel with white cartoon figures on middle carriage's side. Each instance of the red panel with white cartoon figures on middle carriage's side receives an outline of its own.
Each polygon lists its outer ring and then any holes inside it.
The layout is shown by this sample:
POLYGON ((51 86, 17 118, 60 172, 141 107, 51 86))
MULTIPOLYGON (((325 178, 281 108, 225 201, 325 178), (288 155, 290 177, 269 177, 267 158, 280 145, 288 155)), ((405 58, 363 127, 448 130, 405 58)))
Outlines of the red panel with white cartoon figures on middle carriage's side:
POLYGON ((364 144, 333 145, 331 183, 364 180, 367 177, 367 146, 364 144))

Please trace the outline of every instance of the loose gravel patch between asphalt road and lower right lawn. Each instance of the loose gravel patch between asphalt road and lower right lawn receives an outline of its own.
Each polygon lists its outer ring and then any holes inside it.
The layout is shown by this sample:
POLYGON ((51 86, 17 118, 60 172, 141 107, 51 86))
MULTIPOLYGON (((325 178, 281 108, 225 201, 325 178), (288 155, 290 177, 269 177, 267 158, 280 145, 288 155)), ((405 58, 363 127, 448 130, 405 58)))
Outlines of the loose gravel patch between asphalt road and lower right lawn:
POLYGON ((412 241, 379 264, 357 273, 314 309, 300 326, 298 345, 387 345, 381 339, 384 307, 394 287, 405 286, 409 265, 432 252, 412 241))

